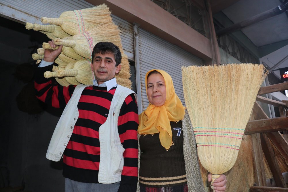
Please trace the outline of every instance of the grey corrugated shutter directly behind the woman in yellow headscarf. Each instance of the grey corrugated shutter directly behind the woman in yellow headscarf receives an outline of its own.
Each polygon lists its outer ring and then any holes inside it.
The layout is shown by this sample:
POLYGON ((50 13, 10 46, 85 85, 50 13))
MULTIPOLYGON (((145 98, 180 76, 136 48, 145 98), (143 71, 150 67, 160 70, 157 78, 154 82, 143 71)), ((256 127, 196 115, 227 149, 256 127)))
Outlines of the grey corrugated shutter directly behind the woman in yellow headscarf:
POLYGON ((142 111, 149 104, 145 89, 145 75, 151 69, 162 69, 172 77, 176 94, 185 106, 181 66, 200 65, 203 63, 202 59, 141 28, 138 28, 138 35, 142 111))

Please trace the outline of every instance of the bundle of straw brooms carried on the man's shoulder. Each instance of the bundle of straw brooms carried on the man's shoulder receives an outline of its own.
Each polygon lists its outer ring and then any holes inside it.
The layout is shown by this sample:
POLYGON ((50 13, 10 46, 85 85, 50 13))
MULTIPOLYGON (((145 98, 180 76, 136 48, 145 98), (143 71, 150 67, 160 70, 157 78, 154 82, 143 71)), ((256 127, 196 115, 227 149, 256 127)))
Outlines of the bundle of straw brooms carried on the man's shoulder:
MULTIPOLYGON (((63 12, 60 15, 60 18, 43 17, 41 19, 42 23, 50 23, 52 25, 26 23, 26 28, 34 29, 36 31, 39 30, 40 32, 45 33, 50 39, 57 42, 58 45, 63 43, 66 45, 63 46, 61 54, 55 60, 55 63, 57 64, 75 63, 78 60, 84 59, 83 57, 86 58, 86 61, 90 61, 91 63, 92 49, 96 43, 100 41, 113 42, 120 48, 122 54, 121 70, 115 75, 117 83, 131 88, 132 82, 129 80, 131 75, 130 66, 128 57, 124 54, 122 48, 120 29, 112 22, 110 15, 111 12, 109 11, 109 7, 103 4, 87 9, 63 12), (86 38, 88 38, 88 41, 86 38)), ((44 46, 43 43, 43 48, 52 49, 52 47, 48 45, 44 46)), ((34 54, 33 58, 38 59, 37 62, 39 62, 39 59, 43 58, 43 55, 39 56, 38 54, 34 54)), ((59 71, 61 70, 59 69, 59 71)), ((71 73, 65 73, 62 78, 59 76, 59 71, 57 73, 47 72, 45 77, 55 77, 62 86, 68 86, 72 83, 74 85, 83 82, 85 82, 84 84, 87 84, 88 82, 92 83, 90 80, 81 80, 82 78, 90 79, 90 72, 92 72, 92 70, 89 72, 87 71, 87 74, 78 73, 75 77, 69 77, 71 73), (67 82, 66 79, 68 79, 69 82, 67 82), (76 79, 78 79, 78 81, 76 81, 76 79)))

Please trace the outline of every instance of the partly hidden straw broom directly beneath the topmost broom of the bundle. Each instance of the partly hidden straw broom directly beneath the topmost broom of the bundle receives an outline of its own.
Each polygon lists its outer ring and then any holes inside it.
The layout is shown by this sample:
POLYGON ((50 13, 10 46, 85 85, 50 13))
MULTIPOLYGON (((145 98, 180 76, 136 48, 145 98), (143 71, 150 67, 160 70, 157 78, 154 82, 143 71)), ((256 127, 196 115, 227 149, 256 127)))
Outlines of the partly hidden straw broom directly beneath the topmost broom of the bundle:
POLYGON ((65 31, 63 31, 62 28, 58 25, 40 25, 35 23, 33 29, 35 31, 45 31, 48 33, 52 33, 55 37, 59 37, 61 39, 71 36, 65 31))

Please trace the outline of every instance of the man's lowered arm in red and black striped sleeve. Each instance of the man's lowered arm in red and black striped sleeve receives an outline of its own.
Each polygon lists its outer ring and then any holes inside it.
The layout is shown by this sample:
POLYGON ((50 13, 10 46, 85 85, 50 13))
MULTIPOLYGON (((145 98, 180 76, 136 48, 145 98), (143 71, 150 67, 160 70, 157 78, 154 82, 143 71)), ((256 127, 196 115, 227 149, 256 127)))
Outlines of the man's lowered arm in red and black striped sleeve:
POLYGON ((137 129, 139 125, 138 107, 134 94, 129 95, 118 117, 118 132, 121 143, 125 149, 123 153, 124 167, 118 192, 136 191, 138 176, 138 140, 137 129))

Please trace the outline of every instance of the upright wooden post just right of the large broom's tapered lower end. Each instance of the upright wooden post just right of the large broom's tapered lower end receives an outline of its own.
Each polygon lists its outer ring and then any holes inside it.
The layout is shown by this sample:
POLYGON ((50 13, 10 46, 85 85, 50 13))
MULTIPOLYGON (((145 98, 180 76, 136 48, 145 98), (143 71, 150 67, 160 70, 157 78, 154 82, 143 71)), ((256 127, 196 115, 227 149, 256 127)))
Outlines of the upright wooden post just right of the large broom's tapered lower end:
POLYGON ((255 183, 257 186, 266 186, 266 174, 264 168, 264 159, 263 151, 261 147, 260 134, 255 133, 251 134, 252 138, 252 150, 253 150, 253 159, 255 167, 255 183))

